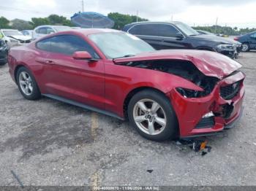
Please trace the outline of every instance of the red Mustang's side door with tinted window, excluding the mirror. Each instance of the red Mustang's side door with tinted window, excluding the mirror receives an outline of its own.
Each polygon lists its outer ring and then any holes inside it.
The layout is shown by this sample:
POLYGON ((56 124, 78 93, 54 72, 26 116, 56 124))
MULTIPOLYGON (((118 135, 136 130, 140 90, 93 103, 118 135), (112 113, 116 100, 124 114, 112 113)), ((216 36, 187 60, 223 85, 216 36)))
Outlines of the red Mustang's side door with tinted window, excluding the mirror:
POLYGON ((105 73, 99 55, 80 36, 59 35, 48 41, 50 52, 37 58, 45 67, 45 92, 104 109, 105 73), (99 60, 75 60, 72 54, 76 51, 87 51, 99 60))

